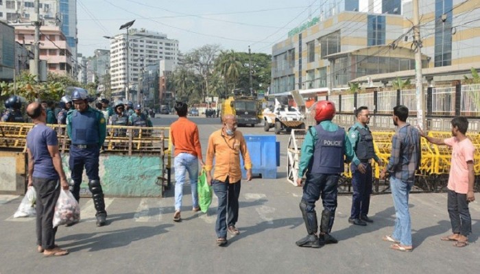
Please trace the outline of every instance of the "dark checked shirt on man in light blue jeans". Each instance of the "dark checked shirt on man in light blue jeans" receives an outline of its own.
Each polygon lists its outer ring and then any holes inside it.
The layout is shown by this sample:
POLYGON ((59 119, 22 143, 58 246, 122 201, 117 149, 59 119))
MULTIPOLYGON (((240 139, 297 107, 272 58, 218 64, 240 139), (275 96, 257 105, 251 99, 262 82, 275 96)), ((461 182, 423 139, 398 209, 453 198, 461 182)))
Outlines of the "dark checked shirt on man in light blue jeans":
POLYGON ((420 132, 407 123, 392 138, 392 155, 387 171, 402 182, 414 182, 421 158, 420 132))

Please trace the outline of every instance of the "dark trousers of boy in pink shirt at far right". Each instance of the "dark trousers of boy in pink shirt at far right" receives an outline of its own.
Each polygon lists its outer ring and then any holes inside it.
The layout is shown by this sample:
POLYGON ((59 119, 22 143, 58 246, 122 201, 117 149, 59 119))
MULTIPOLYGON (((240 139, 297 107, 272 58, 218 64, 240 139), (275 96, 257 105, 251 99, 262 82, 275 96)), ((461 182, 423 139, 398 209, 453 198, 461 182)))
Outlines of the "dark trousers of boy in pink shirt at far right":
POLYGON ((448 215, 452 223, 452 232, 468 236, 472 232, 472 217, 468 210, 467 195, 448 190, 448 215))

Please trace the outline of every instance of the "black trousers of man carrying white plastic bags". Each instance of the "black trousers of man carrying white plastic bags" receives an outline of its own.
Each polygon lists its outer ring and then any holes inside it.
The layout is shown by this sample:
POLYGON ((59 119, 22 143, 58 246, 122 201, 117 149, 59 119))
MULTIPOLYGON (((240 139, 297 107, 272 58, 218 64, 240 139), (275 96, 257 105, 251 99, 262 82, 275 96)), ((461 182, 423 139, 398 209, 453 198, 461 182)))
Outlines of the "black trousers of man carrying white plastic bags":
POLYGON ((53 249, 57 232, 57 227, 53 228, 53 213, 60 196, 60 182, 58 179, 33 179, 36 192, 36 242, 43 249, 53 249))

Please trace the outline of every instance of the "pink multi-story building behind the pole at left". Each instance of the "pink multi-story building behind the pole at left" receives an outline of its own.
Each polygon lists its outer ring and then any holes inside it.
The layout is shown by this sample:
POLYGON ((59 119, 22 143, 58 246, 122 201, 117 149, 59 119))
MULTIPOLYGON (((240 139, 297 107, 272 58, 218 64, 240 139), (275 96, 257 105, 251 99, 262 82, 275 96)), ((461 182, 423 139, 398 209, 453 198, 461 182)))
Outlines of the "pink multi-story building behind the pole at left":
MULTIPOLYGON (((35 40, 34 32, 35 29, 32 26, 16 26, 15 40, 32 47, 35 40)), ((40 60, 47 61, 49 72, 72 75, 71 49, 60 27, 40 27, 40 45, 40 60)))

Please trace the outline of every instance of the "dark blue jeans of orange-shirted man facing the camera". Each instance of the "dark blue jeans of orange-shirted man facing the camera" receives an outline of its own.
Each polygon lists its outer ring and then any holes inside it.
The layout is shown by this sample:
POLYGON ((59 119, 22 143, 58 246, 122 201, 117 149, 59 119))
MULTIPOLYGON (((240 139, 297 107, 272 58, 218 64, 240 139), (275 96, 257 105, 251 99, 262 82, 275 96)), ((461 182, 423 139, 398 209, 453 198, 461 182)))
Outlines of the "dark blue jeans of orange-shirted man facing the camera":
POLYGON ((226 238, 227 227, 235 225, 239 220, 240 181, 230 184, 228 177, 225 182, 212 180, 212 187, 218 197, 217 222, 215 232, 218 238, 226 238), (228 216, 228 220, 227 220, 228 216))

